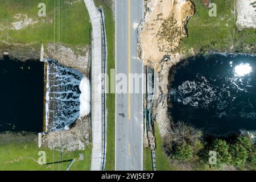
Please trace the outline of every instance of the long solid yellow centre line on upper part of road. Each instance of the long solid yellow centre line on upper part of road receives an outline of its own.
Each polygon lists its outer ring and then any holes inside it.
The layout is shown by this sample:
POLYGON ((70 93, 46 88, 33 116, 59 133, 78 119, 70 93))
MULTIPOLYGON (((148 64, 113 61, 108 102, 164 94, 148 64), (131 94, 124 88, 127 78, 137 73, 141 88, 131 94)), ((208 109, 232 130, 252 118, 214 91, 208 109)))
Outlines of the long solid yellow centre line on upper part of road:
POLYGON ((128 0, 128 119, 131 118, 131 0, 128 0))

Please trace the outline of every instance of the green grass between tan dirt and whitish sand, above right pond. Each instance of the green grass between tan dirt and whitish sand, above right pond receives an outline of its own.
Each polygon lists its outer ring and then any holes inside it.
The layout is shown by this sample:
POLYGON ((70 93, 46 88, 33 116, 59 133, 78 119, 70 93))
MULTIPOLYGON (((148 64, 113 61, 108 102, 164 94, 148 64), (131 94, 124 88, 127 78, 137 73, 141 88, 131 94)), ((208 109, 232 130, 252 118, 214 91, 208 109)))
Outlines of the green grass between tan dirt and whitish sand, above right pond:
POLYGON ((187 24, 188 37, 181 42, 181 50, 187 51, 193 48, 195 51, 211 49, 224 51, 232 47, 234 16, 231 11, 234 1, 213 0, 212 2, 217 5, 216 17, 209 16, 209 9, 205 9, 201 0, 191 2, 195 5, 195 14, 187 24))

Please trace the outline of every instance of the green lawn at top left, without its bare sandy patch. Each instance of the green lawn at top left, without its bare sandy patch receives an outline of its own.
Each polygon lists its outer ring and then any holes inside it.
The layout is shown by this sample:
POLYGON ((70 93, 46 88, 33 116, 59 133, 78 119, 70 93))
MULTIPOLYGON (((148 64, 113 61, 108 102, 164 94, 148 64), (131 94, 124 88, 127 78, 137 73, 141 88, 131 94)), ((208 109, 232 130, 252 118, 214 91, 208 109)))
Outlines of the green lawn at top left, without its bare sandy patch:
MULTIPOLYGON (((89 44, 89 14, 84 1, 67 5, 65 1, 53 0, 0 0, 0 42, 34 44, 62 43, 64 46, 78 48, 89 44), (38 16, 38 4, 46 3, 46 17, 38 16), (60 3, 59 3, 60 2, 60 3), (18 21, 15 14, 27 15, 38 23, 21 30, 11 30, 11 23, 18 21)), ((0 43, 2 44, 2 43, 0 43)))

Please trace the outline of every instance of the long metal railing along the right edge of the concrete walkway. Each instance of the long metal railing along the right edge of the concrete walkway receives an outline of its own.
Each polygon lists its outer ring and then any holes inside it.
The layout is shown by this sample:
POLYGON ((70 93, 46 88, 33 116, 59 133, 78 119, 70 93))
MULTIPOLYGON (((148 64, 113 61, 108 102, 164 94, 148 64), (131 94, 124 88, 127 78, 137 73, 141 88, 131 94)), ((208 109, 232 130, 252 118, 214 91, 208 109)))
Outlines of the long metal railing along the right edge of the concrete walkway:
POLYGON ((98 9, 101 13, 101 36, 102 36, 102 73, 104 75, 103 85, 102 85, 102 157, 101 157, 101 170, 104 171, 105 168, 105 158, 106 158, 106 93, 105 93, 105 81, 106 81, 106 61, 107 61, 107 44, 106 44, 106 28, 105 28, 105 16, 102 6, 98 9))

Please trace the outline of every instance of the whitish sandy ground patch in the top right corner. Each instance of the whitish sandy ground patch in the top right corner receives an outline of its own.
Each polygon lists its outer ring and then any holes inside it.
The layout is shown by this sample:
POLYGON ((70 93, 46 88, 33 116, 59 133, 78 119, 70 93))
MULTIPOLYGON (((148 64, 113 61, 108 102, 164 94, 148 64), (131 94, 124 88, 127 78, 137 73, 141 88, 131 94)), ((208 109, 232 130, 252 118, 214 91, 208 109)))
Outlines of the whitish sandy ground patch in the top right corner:
POLYGON ((237 27, 256 28, 256 1, 255 0, 236 0, 237 6, 237 27))

